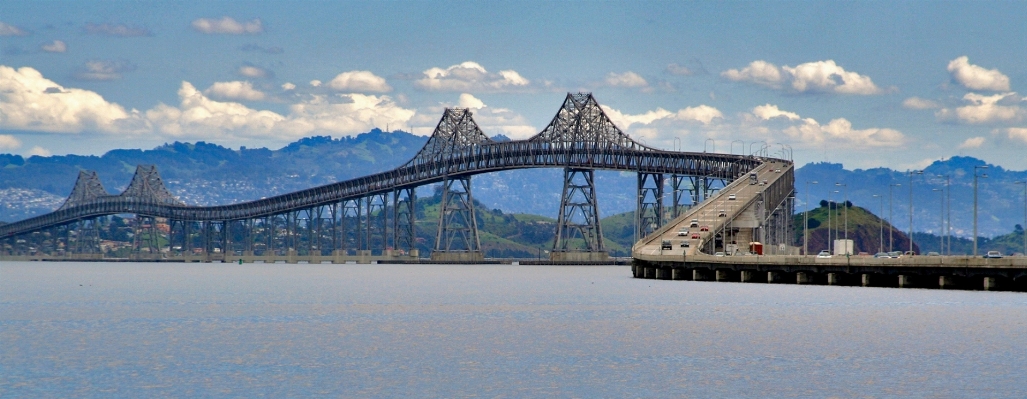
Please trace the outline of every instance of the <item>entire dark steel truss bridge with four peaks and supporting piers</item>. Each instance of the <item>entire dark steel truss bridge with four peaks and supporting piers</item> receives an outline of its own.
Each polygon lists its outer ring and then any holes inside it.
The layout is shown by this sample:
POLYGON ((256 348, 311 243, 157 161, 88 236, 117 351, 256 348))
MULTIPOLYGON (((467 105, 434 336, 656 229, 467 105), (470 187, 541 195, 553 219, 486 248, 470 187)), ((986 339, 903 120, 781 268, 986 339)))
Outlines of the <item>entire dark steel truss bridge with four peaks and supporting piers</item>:
POLYGON ((96 172, 83 170, 58 210, 0 226, 0 255, 40 251, 94 255, 101 252, 101 221, 112 214, 136 214, 137 253, 164 251, 166 256, 178 251, 206 260, 235 252, 272 256, 402 252, 416 257, 414 189, 442 183, 431 256, 473 262, 483 255, 470 177, 558 167, 564 169, 564 190, 550 254, 555 260, 595 261, 606 256, 596 169, 638 173, 635 231, 640 239, 678 217, 687 205, 703 201, 716 182, 726 186, 767 161, 784 160, 644 146, 617 128, 591 93, 568 93, 553 121, 528 139, 495 142, 469 110, 447 109, 425 146, 400 167, 251 202, 184 204, 167 191, 153 165, 139 166, 128 188, 112 195, 96 172), (667 191, 672 195, 664 207, 667 191), (160 225, 165 228, 158 232, 160 225), (161 234, 164 240, 157 238, 161 234))

